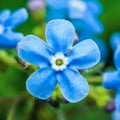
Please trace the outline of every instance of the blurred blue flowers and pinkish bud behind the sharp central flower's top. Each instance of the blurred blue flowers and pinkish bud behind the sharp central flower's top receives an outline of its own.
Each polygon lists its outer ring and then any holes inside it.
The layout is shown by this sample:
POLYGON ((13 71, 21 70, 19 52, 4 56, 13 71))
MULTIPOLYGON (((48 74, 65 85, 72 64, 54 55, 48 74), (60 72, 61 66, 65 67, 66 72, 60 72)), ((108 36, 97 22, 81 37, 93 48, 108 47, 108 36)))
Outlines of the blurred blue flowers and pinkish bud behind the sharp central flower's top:
POLYGON ((104 32, 104 26, 98 18, 103 11, 98 0, 29 0, 28 8, 33 14, 46 8, 47 22, 53 19, 69 20, 75 27, 75 41, 92 38, 100 49, 101 61, 107 60, 107 45, 98 37, 104 32))

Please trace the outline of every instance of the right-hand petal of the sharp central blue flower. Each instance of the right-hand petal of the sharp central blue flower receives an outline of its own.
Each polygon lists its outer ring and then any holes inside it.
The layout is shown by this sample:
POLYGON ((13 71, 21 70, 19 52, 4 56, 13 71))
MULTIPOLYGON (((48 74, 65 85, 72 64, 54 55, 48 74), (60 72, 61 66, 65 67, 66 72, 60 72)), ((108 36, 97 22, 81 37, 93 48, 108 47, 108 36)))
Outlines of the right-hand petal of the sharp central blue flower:
POLYGON ((86 69, 96 65, 100 60, 98 46, 91 39, 76 44, 68 54, 69 65, 79 69, 86 69))

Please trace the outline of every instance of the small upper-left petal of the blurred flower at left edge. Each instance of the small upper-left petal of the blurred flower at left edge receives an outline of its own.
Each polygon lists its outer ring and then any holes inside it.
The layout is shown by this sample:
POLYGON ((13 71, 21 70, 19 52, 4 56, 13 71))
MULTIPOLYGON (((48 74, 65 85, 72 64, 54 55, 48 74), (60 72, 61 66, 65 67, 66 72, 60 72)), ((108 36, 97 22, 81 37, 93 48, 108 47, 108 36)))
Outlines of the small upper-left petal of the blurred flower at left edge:
POLYGON ((3 10, 0 12, 0 23, 4 23, 5 20, 7 20, 10 16, 10 10, 3 10))

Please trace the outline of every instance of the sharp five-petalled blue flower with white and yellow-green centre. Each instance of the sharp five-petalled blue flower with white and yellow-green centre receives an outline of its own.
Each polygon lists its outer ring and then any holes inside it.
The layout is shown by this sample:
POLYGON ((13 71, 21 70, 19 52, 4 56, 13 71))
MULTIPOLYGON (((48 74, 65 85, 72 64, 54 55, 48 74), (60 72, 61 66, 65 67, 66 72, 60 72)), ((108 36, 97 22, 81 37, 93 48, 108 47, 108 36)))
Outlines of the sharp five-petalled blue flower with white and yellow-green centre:
POLYGON ((88 94, 89 88, 77 69, 87 69, 98 63, 100 53, 97 45, 88 39, 72 46, 75 29, 67 20, 50 21, 45 33, 47 44, 34 35, 28 35, 18 45, 19 57, 40 67, 27 79, 27 90, 45 100, 58 84, 65 99, 80 101, 88 94))

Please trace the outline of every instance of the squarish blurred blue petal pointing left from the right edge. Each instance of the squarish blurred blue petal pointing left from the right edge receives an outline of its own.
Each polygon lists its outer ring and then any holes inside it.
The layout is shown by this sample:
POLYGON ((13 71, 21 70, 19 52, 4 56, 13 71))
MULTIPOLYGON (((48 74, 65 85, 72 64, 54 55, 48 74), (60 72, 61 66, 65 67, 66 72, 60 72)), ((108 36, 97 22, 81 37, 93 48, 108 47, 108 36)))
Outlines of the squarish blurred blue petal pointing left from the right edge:
POLYGON ((120 72, 110 71, 104 73, 103 86, 108 89, 117 89, 120 86, 120 72))

